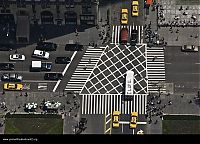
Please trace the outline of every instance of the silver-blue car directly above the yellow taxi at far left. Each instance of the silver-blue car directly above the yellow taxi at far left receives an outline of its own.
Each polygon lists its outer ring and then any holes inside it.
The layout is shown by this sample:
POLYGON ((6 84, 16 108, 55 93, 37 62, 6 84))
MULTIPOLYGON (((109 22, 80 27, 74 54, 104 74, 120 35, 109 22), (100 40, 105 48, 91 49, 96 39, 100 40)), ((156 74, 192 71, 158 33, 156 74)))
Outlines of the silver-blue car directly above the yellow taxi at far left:
POLYGON ((17 73, 4 73, 1 76, 2 81, 12 81, 12 82, 21 82, 22 81, 22 75, 19 75, 17 73))

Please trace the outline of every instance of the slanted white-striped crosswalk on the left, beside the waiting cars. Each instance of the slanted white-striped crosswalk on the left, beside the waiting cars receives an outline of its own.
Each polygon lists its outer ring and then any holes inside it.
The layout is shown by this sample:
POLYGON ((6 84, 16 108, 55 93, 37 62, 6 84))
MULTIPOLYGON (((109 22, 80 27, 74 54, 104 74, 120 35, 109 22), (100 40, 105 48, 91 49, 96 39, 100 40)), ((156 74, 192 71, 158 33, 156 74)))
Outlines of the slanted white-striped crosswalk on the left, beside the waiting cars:
POLYGON ((79 62, 65 90, 80 92, 103 52, 103 48, 89 46, 79 62))

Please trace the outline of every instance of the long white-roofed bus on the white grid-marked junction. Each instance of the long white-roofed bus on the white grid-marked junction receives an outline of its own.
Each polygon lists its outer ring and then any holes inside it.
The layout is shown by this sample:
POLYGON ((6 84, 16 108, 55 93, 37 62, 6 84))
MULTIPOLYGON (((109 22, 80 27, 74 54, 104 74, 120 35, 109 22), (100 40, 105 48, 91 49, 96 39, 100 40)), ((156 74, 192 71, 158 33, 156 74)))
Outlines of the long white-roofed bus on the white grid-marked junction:
POLYGON ((134 72, 128 70, 126 72, 125 95, 133 96, 133 90, 134 90, 134 72))

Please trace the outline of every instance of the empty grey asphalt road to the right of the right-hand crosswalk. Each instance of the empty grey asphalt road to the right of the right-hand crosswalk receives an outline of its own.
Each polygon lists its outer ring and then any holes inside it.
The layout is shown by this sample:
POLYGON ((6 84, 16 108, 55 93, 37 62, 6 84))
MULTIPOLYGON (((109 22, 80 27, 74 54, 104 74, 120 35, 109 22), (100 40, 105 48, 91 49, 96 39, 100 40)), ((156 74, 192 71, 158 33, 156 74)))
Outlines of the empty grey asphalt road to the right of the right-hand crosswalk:
POLYGON ((199 52, 181 52, 181 47, 165 49, 166 82, 174 84, 174 93, 194 94, 199 89, 199 52))

